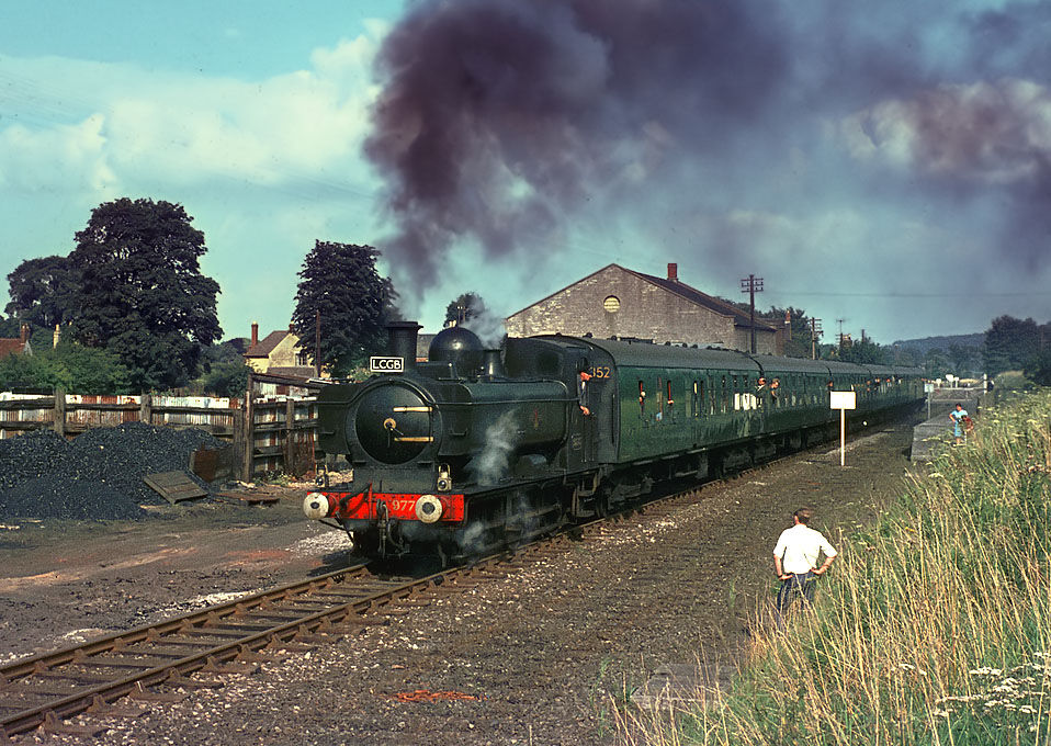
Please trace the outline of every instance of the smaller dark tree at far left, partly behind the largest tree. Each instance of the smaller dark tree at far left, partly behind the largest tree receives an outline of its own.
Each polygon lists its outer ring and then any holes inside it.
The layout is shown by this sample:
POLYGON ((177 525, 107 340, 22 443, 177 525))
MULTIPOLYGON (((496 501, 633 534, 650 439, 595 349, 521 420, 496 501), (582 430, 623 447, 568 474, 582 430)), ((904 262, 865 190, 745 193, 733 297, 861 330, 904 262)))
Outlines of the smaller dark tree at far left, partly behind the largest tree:
POLYGON ((79 279, 68 257, 26 259, 8 275, 4 310, 20 323, 53 329, 76 314, 79 279))

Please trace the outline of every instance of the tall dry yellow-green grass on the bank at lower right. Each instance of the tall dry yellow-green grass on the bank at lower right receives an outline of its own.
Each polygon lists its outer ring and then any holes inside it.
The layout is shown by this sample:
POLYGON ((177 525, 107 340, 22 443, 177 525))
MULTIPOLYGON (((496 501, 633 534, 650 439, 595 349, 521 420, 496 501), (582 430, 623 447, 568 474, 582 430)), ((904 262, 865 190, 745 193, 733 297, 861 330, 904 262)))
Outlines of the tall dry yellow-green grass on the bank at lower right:
POLYGON ((621 712, 631 744, 1051 744, 1051 394, 985 412, 844 538, 813 611, 770 609, 715 705, 621 712))

